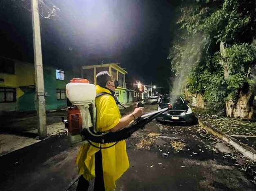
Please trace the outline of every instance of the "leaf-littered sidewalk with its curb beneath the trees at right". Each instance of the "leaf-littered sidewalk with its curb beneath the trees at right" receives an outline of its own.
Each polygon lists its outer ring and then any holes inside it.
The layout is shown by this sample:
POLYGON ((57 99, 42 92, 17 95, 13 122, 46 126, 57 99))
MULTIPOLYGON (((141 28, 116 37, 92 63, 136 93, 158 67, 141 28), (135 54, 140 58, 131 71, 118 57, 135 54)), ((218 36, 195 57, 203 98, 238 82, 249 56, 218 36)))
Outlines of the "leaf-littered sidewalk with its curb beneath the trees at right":
POLYGON ((206 108, 191 108, 203 128, 232 145, 244 156, 256 161, 256 122, 218 117, 206 108))

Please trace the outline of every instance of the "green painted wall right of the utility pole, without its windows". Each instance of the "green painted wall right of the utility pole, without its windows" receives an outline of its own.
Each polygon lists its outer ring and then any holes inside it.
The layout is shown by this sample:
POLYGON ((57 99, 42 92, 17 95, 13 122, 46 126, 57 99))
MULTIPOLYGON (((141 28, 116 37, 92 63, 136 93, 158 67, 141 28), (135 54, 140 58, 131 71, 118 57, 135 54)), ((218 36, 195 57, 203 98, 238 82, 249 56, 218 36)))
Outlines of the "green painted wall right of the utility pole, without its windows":
POLYGON ((67 83, 69 83, 69 80, 73 77, 73 72, 63 70, 65 72, 65 80, 57 80, 56 69, 57 68, 54 67, 44 66, 45 91, 47 92, 47 97, 45 97, 45 109, 47 111, 62 109, 67 106, 67 98, 65 100, 57 100, 56 90, 66 89, 67 83))

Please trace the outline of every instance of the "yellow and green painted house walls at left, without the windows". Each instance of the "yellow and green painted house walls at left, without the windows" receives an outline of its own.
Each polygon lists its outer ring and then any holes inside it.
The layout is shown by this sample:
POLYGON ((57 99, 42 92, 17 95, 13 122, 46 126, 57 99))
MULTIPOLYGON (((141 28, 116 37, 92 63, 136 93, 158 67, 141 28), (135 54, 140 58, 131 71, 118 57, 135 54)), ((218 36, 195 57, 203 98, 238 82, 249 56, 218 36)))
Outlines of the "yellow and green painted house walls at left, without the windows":
MULTIPOLYGON (((34 65, 20 61, 15 62, 15 74, 0 73, 0 78, 4 82, 0 82, 0 87, 16 88, 16 102, 0 103, 0 112, 4 111, 35 111, 35 74, 34 65)), ((45 91, 48 96, 46 100, 46 110, 61 109, 67 106, 67 98, 65 100, 57 100, 56 90, 66 89, 66 84, 73 77, 72 71, 65 71, 65 80, 57 80, 55 70, 57 68, 44 65, 44 82, 45 91)))

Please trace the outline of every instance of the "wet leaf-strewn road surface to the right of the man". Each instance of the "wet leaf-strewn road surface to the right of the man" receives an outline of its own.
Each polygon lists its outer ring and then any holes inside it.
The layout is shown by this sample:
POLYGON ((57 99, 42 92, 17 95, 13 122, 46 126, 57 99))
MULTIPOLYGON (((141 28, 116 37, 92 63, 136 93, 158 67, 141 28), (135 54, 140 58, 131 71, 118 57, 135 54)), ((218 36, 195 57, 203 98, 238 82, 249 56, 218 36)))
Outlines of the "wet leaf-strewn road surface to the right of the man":
POLYGON ((117 190, 255 190, 248 170, 254 163, 232 149, 220 152, 218 143, 199 125, 153 121, 127 140, 130 168, 117 190))

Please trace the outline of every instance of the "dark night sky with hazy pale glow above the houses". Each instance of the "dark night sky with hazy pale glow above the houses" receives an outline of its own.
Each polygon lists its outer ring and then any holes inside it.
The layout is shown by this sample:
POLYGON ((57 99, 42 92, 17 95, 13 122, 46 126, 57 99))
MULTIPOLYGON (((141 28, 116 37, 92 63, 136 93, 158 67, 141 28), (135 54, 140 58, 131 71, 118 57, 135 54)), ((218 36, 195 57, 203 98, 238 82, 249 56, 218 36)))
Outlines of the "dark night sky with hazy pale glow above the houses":
MULTIPOLYGON (((41 17, 43 62, 120 63, 128 78, 168 86, 167 60, 174 36, 174 0, 44 0, 41 17), (72 48, 70 51, 69 48, 72 48)), ((33 63, 30 0, 0 1, 0 56, 33 63)))

